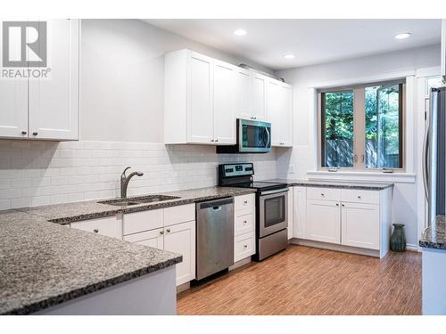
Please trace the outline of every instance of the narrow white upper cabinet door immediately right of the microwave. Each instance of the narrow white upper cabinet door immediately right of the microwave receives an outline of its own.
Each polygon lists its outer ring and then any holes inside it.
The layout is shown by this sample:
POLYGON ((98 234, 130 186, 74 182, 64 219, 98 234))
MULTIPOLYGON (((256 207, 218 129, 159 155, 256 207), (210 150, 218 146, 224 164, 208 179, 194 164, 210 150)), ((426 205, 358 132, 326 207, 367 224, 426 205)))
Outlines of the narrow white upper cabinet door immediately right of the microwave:
POLYGON ((271 145, 279 146, 282 139, 281 87, 277 80, 268 80, 267 114, 271 122, 271 145))

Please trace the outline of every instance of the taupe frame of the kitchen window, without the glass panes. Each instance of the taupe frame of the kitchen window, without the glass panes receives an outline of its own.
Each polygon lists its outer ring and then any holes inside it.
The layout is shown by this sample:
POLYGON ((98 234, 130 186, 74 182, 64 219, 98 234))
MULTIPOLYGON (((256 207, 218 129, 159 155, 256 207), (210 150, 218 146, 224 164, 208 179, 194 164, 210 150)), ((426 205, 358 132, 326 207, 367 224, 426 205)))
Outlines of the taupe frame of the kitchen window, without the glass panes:
POLYGON ((365 108, 365 89, 369 86, 393 86, 401 85, 400 94, 400 117, 399 117, 399 131, 401 141, 400 146, 400 160, 401 167, 399 168, 387 168, 394 172, 405 173, 407 167, 406 161, 406 78, 386 80, 378 82, 370 82, 359 85, 349 86, 334 86, 328 88, 321 88, 317 90, 318 95, 318 170, 319 171, 350 171, 350 172, 384 172, 384 168, 366 168, 366 108, 365 108), (322 94, 353 91, 353 167, 323 167, 322 166, 322 154, 323 154, 323 114, 322 114, 322 94), (358 108, 357 108, 358 107, 358 108))

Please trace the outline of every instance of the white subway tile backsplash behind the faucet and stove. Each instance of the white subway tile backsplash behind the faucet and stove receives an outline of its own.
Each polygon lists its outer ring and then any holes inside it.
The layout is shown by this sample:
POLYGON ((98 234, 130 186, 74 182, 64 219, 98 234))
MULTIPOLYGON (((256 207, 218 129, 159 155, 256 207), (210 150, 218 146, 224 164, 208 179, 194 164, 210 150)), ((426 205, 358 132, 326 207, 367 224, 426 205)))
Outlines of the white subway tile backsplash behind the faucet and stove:
POLYGON ((216 185, 217 166, 227 162, 254 162, 256 179, 277 176, 274 150, 219 155, 206 145, 0 140, 0 157, 1 209, 117 197, 128 166, 145 173, 129 195, 216 185))

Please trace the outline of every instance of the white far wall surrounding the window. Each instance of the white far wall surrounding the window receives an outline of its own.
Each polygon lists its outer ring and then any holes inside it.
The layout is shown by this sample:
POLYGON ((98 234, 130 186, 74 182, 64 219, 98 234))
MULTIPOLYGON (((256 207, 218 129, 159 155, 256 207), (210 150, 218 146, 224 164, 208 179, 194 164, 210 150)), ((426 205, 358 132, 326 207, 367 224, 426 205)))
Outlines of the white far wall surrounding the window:
MULTIPOLYGON (((317 152, 312 149, 315 130, 312 125, 314 110, 311 107, 309 87, 325 82, 355 77, 370 77, 385 73, 420 69, 440 64, 440 45, 384 53, 348 61, 336 61, 278 72, 293 85, 294 143, 292 151, 278 151, 277 174, 281 177, 307 178, 315 170, 317 152)), ((417 92, 417 89, 415 89, 417 92)), ((417 108, 418 104, 415 103, 417 108)), ((423 112, 423 110, 414 110, 423 112)), ((417 126, 417 125, 416 125, 417 126)), ((408 134, 415 136, 415 134, 408 134)), ((417 143, 417 142, 416 142, 417 143)), ((414 151, 415 148, 408 148, 414 151)), ((417 152, 413 152, 417 157, 417 152)), ((406 224, 408 244, 417 245, 417 185, 396 183, 393 191, 394 221, 406 224)))

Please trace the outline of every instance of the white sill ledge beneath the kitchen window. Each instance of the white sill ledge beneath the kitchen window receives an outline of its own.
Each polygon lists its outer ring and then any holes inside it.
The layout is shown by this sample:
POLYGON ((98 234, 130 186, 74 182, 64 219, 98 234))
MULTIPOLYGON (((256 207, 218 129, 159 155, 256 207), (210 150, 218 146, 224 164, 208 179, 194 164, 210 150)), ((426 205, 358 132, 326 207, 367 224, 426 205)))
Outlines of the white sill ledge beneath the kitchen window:
POLYGON ((383 172, 328 172, 326 170, 307 171, 310 180, 365 182, 365 183, 415 183, 417 175, 410 173, 383 172))

